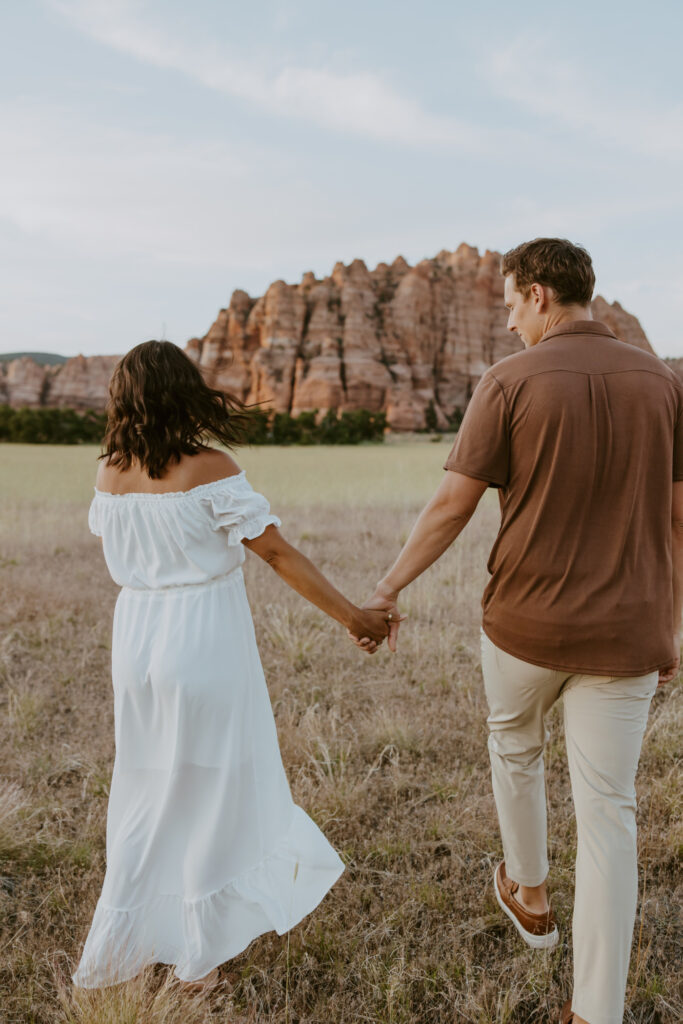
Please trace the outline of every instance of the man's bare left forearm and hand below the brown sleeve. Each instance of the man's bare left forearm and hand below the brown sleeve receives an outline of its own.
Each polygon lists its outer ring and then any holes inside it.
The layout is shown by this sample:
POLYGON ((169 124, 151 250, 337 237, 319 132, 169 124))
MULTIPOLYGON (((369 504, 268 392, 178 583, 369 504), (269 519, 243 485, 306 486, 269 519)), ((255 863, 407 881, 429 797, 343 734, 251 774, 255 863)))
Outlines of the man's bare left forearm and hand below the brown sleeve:
POLYGON ((391 650, 396 649, 400 624, 396 606, 399 592, 451 547, 469 522, 487 486, 485 480, 447 470, 434 497, 418 516, 396 561, 365 604, 366 608, 383 608, 396 616, 389 628, 391 650))

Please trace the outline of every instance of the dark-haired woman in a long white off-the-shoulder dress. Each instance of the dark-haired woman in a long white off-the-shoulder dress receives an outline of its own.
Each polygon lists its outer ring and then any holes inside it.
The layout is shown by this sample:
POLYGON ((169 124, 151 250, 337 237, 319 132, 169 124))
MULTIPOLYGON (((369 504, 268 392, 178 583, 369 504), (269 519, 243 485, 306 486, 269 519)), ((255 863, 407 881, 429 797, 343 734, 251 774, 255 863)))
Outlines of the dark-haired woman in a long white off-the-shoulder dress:
POLYGON ((122 588, 114 615, 116 760, 106 873, 76 985, 171 964, 209 987, 217 966, 281 935, 343 870, 290 794, 245 592, 244 546, 367 638, 361 611, 279 532, 265 498, 208 438, 234 445, 244 407, 170 342, 118 365, 89 525, 122 588))

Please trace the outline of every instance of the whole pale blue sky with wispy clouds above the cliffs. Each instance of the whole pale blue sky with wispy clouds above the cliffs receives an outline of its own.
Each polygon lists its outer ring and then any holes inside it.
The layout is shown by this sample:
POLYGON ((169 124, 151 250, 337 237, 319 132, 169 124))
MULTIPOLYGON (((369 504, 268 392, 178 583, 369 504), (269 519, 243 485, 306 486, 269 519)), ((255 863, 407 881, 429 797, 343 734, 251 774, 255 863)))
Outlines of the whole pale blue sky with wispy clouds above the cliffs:
POLYGON ((683 355, 683 5, 5 0, 0 351, 538 234, 683 355))

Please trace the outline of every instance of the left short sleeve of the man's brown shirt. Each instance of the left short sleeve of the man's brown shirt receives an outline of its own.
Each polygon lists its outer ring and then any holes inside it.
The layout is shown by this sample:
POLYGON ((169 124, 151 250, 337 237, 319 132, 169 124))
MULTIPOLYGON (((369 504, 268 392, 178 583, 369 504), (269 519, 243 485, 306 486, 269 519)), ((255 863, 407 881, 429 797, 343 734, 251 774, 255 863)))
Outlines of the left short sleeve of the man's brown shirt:
MULTIPOLYGON (((683 457, 683 444, 681 453, 683 457)), ((474 389, 443 468, 485 480, 494 487, 504 487, 508 482, 510 418, 503 388, 490 371, 474 389)))

